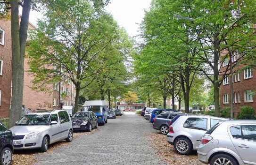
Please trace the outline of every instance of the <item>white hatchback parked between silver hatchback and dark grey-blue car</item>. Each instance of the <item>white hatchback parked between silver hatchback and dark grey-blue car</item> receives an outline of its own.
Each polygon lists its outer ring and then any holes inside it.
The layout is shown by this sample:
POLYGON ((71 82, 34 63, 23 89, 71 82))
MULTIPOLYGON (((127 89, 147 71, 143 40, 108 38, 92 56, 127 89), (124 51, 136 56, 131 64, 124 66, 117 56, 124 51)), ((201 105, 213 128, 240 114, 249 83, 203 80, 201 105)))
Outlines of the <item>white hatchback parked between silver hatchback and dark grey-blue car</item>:
POLYGON ((180 116, 169 128, 167 141, 174 145, 174 149, 182 155, 188 155, 197 150, 206 130, 214 127, 218 122, 229 120, 207 115, 180 116))

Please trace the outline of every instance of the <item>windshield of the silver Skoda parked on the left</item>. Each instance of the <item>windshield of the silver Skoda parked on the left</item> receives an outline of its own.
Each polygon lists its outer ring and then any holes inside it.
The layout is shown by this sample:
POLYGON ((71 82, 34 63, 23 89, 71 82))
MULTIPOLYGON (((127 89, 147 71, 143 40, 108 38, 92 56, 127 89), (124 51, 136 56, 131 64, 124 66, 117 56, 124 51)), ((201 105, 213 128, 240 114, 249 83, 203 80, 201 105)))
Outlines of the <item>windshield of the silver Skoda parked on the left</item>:
POLYGON ((47 125, 50 114, 27 114, 23 116, 17 125, 47 125))

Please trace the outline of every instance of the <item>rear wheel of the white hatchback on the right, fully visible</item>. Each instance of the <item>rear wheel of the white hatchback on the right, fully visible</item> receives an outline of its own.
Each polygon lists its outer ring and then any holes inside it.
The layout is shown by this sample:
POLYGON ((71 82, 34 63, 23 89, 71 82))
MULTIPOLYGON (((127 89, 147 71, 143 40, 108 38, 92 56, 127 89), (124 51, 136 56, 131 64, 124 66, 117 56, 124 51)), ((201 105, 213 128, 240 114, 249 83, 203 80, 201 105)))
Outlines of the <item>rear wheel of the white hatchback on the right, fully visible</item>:
POLYGON ((186 137, 179 137, 174 141, 174 149, 178 154, 189 155, 192 152, 193 145, 186 137))

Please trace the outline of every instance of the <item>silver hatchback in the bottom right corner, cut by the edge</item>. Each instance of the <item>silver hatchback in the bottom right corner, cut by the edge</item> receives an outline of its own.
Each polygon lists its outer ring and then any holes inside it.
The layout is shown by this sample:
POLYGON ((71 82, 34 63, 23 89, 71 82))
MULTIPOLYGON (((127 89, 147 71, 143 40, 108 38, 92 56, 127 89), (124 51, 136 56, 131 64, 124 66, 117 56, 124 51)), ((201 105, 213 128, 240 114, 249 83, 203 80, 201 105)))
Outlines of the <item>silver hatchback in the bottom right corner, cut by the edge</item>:
POLYGON ((198 158, 210 165, 256 165, 256 120, 218 123, 203 136, 198 158))

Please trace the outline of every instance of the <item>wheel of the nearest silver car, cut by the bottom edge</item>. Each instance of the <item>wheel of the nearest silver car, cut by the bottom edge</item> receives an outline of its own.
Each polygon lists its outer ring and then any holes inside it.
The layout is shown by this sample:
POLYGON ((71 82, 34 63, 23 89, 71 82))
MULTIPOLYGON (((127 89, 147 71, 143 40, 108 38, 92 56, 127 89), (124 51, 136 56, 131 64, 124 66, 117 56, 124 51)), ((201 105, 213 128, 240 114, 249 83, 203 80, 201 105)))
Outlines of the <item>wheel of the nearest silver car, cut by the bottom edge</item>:
POLYGON ((210 160, 210 165, 238 165, 237 161, 227 154, 217 154, 210 160))

